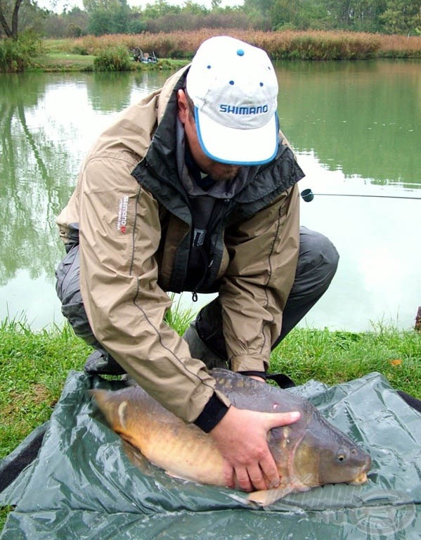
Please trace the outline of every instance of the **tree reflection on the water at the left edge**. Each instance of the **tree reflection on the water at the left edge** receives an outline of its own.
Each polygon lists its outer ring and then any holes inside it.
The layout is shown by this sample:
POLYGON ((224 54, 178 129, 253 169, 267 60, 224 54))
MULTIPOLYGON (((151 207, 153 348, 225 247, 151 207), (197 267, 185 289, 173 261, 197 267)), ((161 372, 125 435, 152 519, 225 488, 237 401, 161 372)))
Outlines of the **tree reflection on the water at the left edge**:
POLYGON ((37 77, 28 86, 29 81, 19 75, 0 77, 0 285, 22 268, 32 278, 53 271, 53 216, 70 193, 65 183, 56 182, 59 171, 70 167, 67 144, 52 141, 34 122, 46 81, 37 77))

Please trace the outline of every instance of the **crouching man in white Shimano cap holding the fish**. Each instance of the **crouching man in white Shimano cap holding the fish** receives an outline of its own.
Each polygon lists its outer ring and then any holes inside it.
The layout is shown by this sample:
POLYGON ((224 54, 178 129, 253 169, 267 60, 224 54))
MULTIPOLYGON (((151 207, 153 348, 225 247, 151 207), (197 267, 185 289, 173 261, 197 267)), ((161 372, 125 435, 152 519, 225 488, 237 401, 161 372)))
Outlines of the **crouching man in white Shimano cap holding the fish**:
POLYGON ((300 234, 304 174, 278 131, 277 96, 264 51, 208 39, 102 134, 58 217, 63 314, 99 351, 86 371, 127 372, 209 432, 227 486, 246 491, 279 482, 267 432, 299 415, 235 409, 208 368, 264 382, 271 349, 337 266, 327 238, 300 234), (218 293, 184 339, 164 323, 167 292, 182 290, 218 293))

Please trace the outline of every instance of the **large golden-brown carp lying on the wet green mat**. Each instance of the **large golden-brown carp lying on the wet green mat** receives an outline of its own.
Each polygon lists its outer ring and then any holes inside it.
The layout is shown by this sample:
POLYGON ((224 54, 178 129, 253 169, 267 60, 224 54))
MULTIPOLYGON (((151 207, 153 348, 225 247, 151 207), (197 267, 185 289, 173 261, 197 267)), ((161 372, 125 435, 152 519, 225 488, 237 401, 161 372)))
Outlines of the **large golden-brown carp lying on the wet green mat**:
MULTIPOLYGON (((280 486, 254 491, 250 501, 262 506, 294 491, 324 484, 367 480, 370 456, 328 423, 306 399, 273 385, 224 369, 211 371, 216 389, 238 409, 285 413, 299 411, 297 422, 268 432, 268 446, 278 467, 280 486)), ((164 409, 141 387, 91 390, 108 424, 169 475, 224 486, 223 458, 212 437, 164 409)))

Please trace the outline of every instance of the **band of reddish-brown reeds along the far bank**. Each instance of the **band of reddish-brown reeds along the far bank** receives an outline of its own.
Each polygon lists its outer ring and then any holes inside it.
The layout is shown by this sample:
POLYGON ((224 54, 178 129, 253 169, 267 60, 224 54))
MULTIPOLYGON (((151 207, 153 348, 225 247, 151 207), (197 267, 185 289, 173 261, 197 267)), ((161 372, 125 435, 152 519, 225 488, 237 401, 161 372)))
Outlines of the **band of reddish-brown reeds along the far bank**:
MULTIPOLYGON (((421 58, 421 37, 364 32, 261 32, 202 29, 157 34, 112 34, 60 40, 68 53, 97 55, 111 46, 140 47, 160 58, 191 58, 205 39, 225 34, 260 46, 273 59, 354 60, 368 58, 421 58)), ((51 46, 53 46, 51 44, 51 46)))

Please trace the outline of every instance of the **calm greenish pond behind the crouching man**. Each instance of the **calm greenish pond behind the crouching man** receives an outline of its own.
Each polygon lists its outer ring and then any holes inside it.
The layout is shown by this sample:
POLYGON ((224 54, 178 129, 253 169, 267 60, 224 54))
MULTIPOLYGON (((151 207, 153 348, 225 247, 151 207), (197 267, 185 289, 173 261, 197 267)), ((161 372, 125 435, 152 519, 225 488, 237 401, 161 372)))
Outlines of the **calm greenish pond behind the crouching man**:
MULTIPOLYGON (((421 61, 276 64, 280 125, 311 188, 302 224, 341 255, 301 326, 413 328, 421 305, 421 61)), ((0 320, 63 323, 56 216, 89 146, 169 72, 0 74, 0 320)), ((193 311, 210 300, 200 295, 193 311)))

